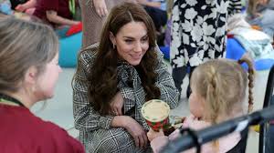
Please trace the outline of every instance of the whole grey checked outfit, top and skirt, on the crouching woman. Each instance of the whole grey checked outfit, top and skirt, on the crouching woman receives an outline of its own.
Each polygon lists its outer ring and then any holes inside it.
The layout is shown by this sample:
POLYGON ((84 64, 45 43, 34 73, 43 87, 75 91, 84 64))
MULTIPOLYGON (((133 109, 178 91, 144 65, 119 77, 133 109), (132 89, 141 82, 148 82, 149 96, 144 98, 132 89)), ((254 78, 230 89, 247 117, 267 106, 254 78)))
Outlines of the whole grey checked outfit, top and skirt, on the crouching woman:
MULTIPOLYGON (((79 64, 72 84, 75 128, 79 129, 80 141, 85 145, 87 152, 149 151, 150 149, 136 148, 132 136, 124 128, 111 128, 113 116, 100 116, 90 105, 87 90, 92 82, 89 82, 87 77, 96 57, 97 47, 98 44, 95 44, 80 52, 79 64)), ((178 91, 163 63, 163 56, 160 55, 160 51, 157 53, 159 53, 159 64, 156 67, 158 74, 156 86, 161 90, 161 99, 174 108, 178 103, 178 91)), ((134 66, 125 62, 119 63, 117 73, 118 87, 124 99, 124 114, 135 118, 143 128, 148 129, 145 120, 141 117, 141 107, 145 102, 141 78, 134 66)))

